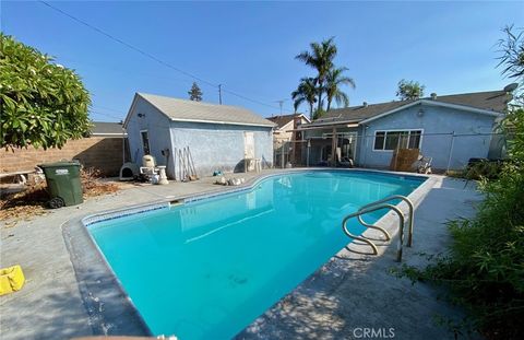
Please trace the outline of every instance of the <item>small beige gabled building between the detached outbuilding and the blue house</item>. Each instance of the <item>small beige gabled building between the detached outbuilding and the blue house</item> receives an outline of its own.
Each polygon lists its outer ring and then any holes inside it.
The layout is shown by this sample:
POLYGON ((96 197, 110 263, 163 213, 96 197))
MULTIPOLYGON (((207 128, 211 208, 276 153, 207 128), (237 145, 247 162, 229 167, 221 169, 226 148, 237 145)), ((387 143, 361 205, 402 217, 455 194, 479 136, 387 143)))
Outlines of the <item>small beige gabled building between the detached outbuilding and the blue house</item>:
POLYGON ((279 115, 267 118, 276 128, 273 130, 273 149, 275 151, 275 166, 285 166, 290 162, 294 166, 301 164, 302 132, 298 130, 301 125, 309 124, 303 114, 279 115))

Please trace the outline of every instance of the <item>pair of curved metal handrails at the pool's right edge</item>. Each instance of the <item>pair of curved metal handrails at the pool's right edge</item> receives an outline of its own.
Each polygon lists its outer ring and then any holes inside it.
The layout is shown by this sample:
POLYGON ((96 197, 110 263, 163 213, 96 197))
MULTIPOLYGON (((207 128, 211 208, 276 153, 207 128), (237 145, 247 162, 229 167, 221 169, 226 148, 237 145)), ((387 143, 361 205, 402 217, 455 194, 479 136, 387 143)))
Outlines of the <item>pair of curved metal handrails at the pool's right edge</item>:
MULTIPOLYGON (((402 261, 402 246, 404 244, 404 214, 395 206, 393 206, 393 204, 376 204, 373 207, 361 208, 358 211, 356 211, 352 214, 348 214, 347 216, 344 218, 344 220, 342 220, 342 230, 343 230, 344 234, 346 234, 348 237, 350 237, 353 239, 361 241, 361 242, 368 244, 369 246, 371 246, 371 248, 373 249, 373 255, 379 254, 379 250, 378 250, 377 245, 374 243, 372 243, 371 241, 369 241, 366 237, 357 236, 357 235, 352 234, 347 230, 346 224, 347 224, 347 221, 349 219, 353 219, 355 216, 359 216, 359 215, 362 215, 362 214, 366 214, 366 213, 369 213, 369 212, 373 212, 373 211, 377 211, 377 210, 380 210, 380 209, 393 210, 398 215, 398 245, 396 247, 396 260, 400 262, 400 261, 402 261)), ((360 221, 360 219, 359 219, 359 221, 360 221)), ((365 226, 370 227, 370 228, 379 230, 379 231, 383 232, 389 237, 388 239, 391 239, 390 234, 384 228, 382 228, 380 226, 377 226, 377 225, 373 225, 373 224, 368 224, 368 223, 366 223, 365 226)))

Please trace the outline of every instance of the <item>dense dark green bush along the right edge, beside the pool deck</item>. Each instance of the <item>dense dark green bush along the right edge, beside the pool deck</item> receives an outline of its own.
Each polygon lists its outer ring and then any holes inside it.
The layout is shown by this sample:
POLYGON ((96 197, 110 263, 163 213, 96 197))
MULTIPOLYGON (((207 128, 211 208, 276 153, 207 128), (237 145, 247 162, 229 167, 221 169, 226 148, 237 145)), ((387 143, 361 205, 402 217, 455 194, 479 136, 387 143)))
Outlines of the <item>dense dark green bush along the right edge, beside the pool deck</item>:
POLYGON ((449 223, 448 255, 401 272, 446 286, 449 300, 468 312, 466 325, 489 339, 524 333, 524 109, 509 114, 505 126, 513 131, 511 162, 497 179, 480 181, 486 199, 476 218, 449 223))

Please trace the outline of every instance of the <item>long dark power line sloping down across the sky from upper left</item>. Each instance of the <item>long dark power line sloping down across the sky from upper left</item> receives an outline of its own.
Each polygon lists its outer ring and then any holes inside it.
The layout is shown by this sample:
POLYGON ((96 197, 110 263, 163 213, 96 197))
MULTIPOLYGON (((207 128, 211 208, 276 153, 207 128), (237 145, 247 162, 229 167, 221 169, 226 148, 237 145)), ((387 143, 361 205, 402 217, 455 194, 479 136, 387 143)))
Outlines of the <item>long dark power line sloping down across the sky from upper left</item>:
MULTIPOLYGON (((88 27, 88 28, 97 32, 98 34, 104 35, 105 37, 107 37, 107 38, 109 38, 109 39, 111 39, 111 40, 114 40, 114 42, 116 42, 116 43, 118 43, 118 44, 120 44, 120 45, 122 45, 122 46, 126 46, 127 48, 130 48, 130 49, 134 50, 135 52, 141 54, 141 55, 144 56, 144 57, 147 57, 147 58, 156 61, 157 63, 160 63, 160 65, 163 65, 163 66, 165 66, 165 67, 167 67, 167 68, 169 68, 169 69, 171 69, 171 70, 175 70, 175 71, 177 71, 177 72, 179 72, 179 73, 182 73, 182 74, 184 74, 184 75, 187 75, 187 77, 189 77, 189 78, 191 78, 191 79, 193 79, 193 80, 198 80, 198 81, 201 82, 201 83, 204 83, 204 84, 207 84, 207 85, 210 85, 210 86, 213 86, 213 87, 218 89, 219 92, 221 92, 221 97, 219 97, 219 101, 221 101, 221 102, 222 102, 222 92, 226 92, 226 93, 229 93, 229 94, 231 94, 231 95, 234 95, 234 96, 237 96, 237 97, 239 97, 239 98, 241 98, 241 99, 245 99, 245 101, 248 101, 248 102, 251 102, 251 103, 254 103, 254 104, 263 105, 263 106, 271 107, 271 108, 278 108, 278 107, 276 107, 276 106, 274 106, 274 105, 270 105, 270 104, 266 104, 266 103, 263 103, 263 102, 260 102, 260 101, 257 101, 257 99, 247 97, 247 96, 241 95, 241 94, 239 94, 239 93, 236 93, 236 92, 234 92, 234 91, 229 91, 229 90, 223 89, 223 84, 212 83, 212 82, 206 81, 206 80, 204 80, 204 79, 202 79, 202 78, 200 78, 200 77, 198 77, 198 75, 194 75, 194 74, 192 74, 192 73, 190 73, 190 72, 187 72, 187 71, 184 71, 184 70, 181 70, 181 69, 179 69, 179 68, 170 65, 169 62, 164 61, 164 60, 162 60, 162 59, 153 56, 152 54, 150 54, 150 52, 147 52, 147 51, 145 51, 145 50, 139 48, 139 47, 135 47, 135 46, 133 46, 133 45, 131 45, 131 44, 129 44, 129 43, 127 43, 127 42, 124 42, 124 40, 122 40, 122 39, 120 39, 120 38, 111 35, 111 34, 109 34, 109 33, 105 32, 105 31, 102 30, 102 28, 98 28, 98 27, 96 27, 96 26, 94 26, 94 25, 92 25, 92 24, 90 24, 90 23, 87 23, 87 22, 85 22, 85 21, 83 21, 83 20, 81 20, 81 19, 72 15, 72 14, 69 14, 68 12, 66 12, 66 11, 63 11, 63 10, 57 8, 57 7, 53 7, 53 5, 50 4, 49 2, 46 2, 46 1, 44 1, 44 0, 38 0, 38 1, 39 1, 40 3, 43 3, 43 4, 45 4, 46 7, 50 8, 51 10, 53 10, 53 11, 56 11, 56 12, 62 14, 62 15, 68 16, 69 19, 71 19, 71 20, 73 20, 73 21, 75 21, 75 22, 78 22, 78 23, 80 23, 80 24, 82 24, 82 25, 84 25, 84 26, 86 26, 86 27, 88 27)), ((222 103, 221 103, 221 104, 222 104, 222 103)))

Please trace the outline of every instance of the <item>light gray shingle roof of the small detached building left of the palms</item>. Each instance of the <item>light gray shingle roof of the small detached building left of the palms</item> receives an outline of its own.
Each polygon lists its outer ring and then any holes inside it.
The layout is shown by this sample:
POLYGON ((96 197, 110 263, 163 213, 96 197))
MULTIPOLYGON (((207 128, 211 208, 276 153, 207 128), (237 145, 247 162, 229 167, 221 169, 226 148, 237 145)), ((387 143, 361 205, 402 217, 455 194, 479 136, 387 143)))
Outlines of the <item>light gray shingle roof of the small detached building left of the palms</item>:
POLYGON ((255 113, 238 106, 184 101, 146 93, 138 93, 138 95, 150 102, 172 120, 275 126, 272 121, 260 117, 255 113))

